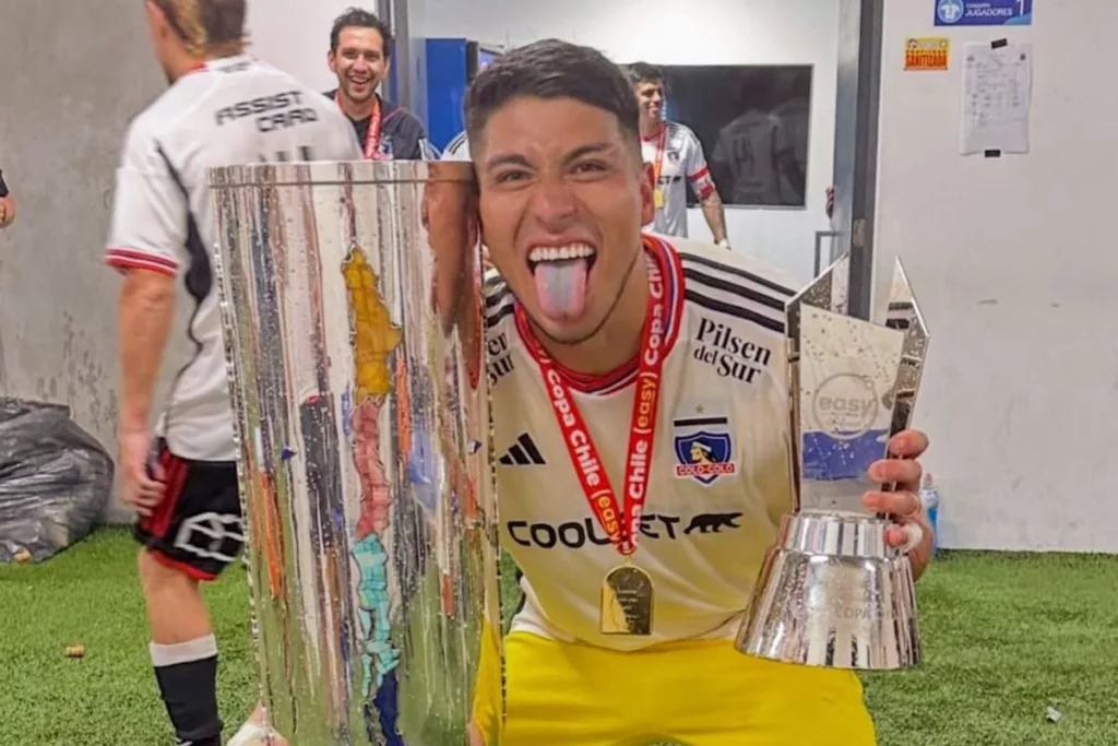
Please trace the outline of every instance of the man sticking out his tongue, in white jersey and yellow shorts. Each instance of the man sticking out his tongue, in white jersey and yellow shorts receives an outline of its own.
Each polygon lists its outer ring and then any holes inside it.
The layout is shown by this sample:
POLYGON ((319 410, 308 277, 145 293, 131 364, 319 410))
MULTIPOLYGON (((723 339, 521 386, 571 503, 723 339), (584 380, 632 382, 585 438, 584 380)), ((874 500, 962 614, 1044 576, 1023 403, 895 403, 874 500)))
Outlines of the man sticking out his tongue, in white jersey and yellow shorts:
MULTIPOLYGON (((854 673, 733 648, 792 508, 783 311, 795 285, 743 255, 642 234, 655 181, 637 100, 599 53, 511 51, 473 82, 466 114, 496 268, 485 306, 501 539, 524 593, 504 640, 504 726, 486 644, 473 743, 500 729, 503 746, 870 746, 854 673), (622 574, 651 594, 638 634, 616 633, 603 603, 622 574)), ((927 440, 889 446, 906 460, 870 476, 900 491, 864 502, 897 516, 889 541, 919 575, 927 440)))

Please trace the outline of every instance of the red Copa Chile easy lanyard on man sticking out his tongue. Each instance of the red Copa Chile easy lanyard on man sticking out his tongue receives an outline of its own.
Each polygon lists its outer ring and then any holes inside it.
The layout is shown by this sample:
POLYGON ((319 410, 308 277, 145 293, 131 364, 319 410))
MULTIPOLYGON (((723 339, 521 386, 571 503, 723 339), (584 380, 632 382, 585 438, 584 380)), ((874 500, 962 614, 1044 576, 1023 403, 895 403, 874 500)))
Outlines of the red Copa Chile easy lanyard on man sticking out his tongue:
MULTIPOLYGON (((628 557, 636 551, 636 535, 641 525, 645 498, 648 492, 648 476, 652 473, 652 454, 656 435, 656 414, 660 403, 661 372, 664 368, 666 350, 665 334, 671 308, 664 283, 664 267, 656 259, 648 262, 648 310, 644 319, 641 337, 641 357, 636 375, 636 391, 633 395, 633 414, 629 417, 628 451, 625 455, 624 504, 617 504, 617 493, 609 482, 598 455, 598 448, 590 438, 578 404, 555 361, 534 337, 525 336, 536 353, 543 385, 556 413, 556 422, 562 431, 567 453, 582 493, 590 503, 598 523, 609 536, 617 551, 628 557), (623 512, 624 511, 624 512, 623 512)), ((517 313, 524 324, 523 310, 517 313)), ((527 324, 524 324, 527 328, 527 324)))

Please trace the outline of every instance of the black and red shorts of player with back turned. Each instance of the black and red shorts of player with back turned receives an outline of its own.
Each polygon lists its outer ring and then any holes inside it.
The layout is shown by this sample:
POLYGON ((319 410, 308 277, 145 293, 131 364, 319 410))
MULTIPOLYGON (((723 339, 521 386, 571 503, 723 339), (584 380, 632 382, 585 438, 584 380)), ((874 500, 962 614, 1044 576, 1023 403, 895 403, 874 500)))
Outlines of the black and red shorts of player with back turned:
POLYGON ((245 547, 237 464, 190 461, 160 441, 155 453, 167 491, 134 529, 140 544, 163 565, 197 580, 212 580, 245 547))

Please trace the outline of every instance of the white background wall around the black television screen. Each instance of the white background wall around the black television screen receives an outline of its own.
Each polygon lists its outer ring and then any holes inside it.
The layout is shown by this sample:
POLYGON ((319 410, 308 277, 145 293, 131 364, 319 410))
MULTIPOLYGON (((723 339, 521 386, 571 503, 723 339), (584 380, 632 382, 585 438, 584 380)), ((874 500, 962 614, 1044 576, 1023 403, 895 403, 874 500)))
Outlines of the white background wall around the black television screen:
MULTIPOLYGON (((837 0, 426 0, 426 32, 519 46, 557 37, 610 58, 663 65, 815 65, 807 208, 728 208, 730 242, 811 277, 814 236, 826 229, 834 143, 837 0)), ((692 237, 710 237, 691 210, 692 237)))

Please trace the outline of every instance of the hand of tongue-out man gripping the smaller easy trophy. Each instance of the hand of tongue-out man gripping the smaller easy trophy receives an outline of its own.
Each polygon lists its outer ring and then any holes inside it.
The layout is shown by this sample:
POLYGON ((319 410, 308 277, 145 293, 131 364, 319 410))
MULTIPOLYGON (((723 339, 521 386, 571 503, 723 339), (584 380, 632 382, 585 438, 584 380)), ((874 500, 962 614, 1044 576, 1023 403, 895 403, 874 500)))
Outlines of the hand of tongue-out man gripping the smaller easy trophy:
POLYGON ((928 436, 907 429, 889 440, 889 459, 870 466, 870 479, 882 484, 897 484, 893 492, 870 491, 862 503, 874 512, 885 513, 899 526, 885 532, 890 546, 908 551, 912 575, 920 577, 931 561, 931 525, 920 503, 920 455, 928 450, 928 436), (917 530, 912 530, 917 528, 917 530))

